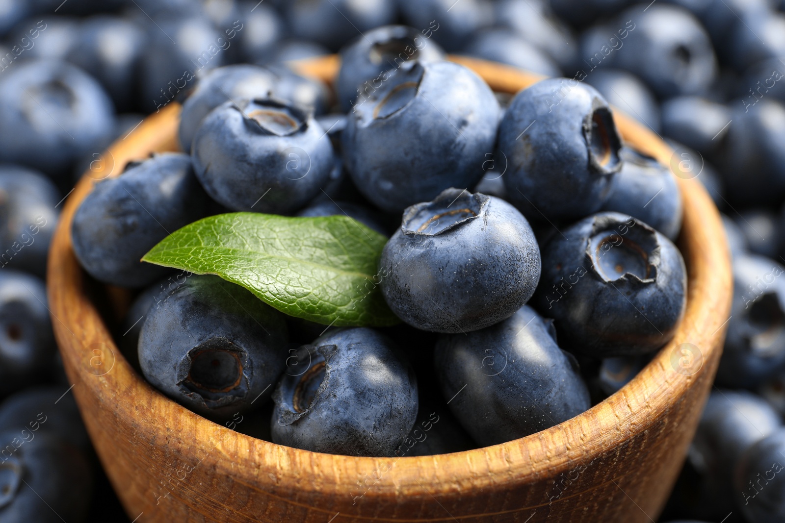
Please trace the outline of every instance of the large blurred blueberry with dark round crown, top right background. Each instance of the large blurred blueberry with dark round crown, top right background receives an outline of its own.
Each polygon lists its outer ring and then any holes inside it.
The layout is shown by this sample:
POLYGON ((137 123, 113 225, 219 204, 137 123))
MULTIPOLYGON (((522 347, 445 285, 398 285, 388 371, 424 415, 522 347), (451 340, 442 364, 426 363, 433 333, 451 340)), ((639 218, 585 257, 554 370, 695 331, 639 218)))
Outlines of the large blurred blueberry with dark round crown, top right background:
POLYGON ((619 41, 623 46, 614 51, 613 63, 637 74, 659 96, 703 93, 717 75, 717 60, 700 22, 677 5, 643 9, 638 4, 619 15, 620 26, 633 20, 634 28, 619 41))

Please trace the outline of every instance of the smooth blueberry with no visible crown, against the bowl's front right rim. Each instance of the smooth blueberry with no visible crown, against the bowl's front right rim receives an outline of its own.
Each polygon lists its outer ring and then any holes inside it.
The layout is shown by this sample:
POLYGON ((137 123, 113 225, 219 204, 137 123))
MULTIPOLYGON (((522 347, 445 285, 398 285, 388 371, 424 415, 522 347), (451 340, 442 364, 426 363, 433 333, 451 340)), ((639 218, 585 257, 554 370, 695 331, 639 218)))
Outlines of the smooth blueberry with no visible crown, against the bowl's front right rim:
POLYGON ((591 406, 577 361, 526 305, 487 329, 440 336, 434 362, 451 411, 483 446, 545 430, 591 406))

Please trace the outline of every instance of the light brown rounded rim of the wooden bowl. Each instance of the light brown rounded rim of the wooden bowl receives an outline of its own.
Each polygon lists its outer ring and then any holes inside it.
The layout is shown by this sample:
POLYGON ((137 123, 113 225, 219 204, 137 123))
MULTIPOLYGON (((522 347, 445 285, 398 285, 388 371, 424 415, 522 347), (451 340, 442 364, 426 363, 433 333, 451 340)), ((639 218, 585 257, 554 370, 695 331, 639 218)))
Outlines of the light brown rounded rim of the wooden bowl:
MULTIPOLYGON (((543 78, 484 60, 463 56, 451 56, 450 60, 469 67, 499 92, 516 93, 522 86, 543 78)), ((332 55, 300 62, 296 67, 302 74, 331 82, 338 64, 338 56, 332 55)), ((422 486, 420 478, 432 478, 426 491, 431 496, 459 496, 458 491, 466 488, 487 492, 495 488, 501 477, 506 485, 523 485, 570 470, 577 463, 590 462, 623 444, 631 435, 644 432, 680 401, 701 376, 707 373, 713 376, 716 371, 732 296, 728 246, 719 213, 707 191, 698 180, 677 177, 684 200, 683 231, 688 232, 688 238, 682 234, 679 242, 688 267, 685 316, 674 339, 630 383, 579 416, 499 445, 437 456, 395 458, 336 456, 292 449, 211 422, 154 390, 133 371, 100 320, 95 304, 84 292, 85 274, 71 249, 71 220, 75 209, 98 175, 117 176, 127 159, 144 158, 150 151, 178 150, 180 109, 172 103, 148 116, 131 133, 133 140, 126 136, 115 142, 104 154, 103 165, 82 176, 68 197, 57 225, 48 262, 47 287, 57 343, 69 380, 75 383, 80 408, 88 395, 96 397, 101 403, 111 405, 116 419, 133 420, 122 423, 131 423, 130 428, 139 431, 142 437, 149 435, 153 441, 157 441, 156 427, 166 425, 166 416, 178 416, 181 427, 188 427, 193 434, 209 440, 211 449, 221 451, 203 458, 202 463, 209 463, 215 474, 255 478, 254 485, 247 486, 267 493, 273 487, 279 490, 287 484, 296 485, 299 492, 356 491, 357 475, 339 473, 336 463, 340 461, 342 468, 366 477, 371 474, 374 478, 373 488, 361 496, 368 499, 386 499, 402 489, 422 486), (682 343, 690 343, 697 349, 693 354, 701 361, 697 369, 690 367, 685 372, 674 363, 684 355, 679 349, 682 343), (96 358, 107 372, 95 371, 96 358), (121 401, 119 394, 133 394, 135 401, 121 401), (148 406, 148 410, 139 412, 139 405, 148 406), (228 459, 231 455, 247 456, 247 463, 228 459), (260 474, 261 471, 269 474, 260 474), (302 481, 304 472, 312 481, 302 481)), ((626 142, 671 165, 674 152, 655 133, 621 111, 615 110, 614 117, 626 142)), ((82 409, 82 416, 88 417, 89 412, 82 409)), ((188 431, 170 434, 166 445, 184 456, 187 449, 199 448, 205 442, 189 439, 188 434, 188 431)), ((287 503, 294 502, 287 499, 287 503)), ((330 510, 324 512, 332 514, 330 510)))

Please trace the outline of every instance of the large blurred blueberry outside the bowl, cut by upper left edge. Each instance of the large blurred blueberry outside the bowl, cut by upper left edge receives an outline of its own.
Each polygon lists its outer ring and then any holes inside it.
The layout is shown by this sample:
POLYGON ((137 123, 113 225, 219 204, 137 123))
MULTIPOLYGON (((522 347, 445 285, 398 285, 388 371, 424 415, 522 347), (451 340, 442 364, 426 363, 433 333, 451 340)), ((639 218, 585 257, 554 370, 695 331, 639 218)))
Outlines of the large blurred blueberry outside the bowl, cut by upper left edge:
POLYGON ((33 60, 0 78, 0 158, 59 175, 100 152, 114 125, 111 100, 78 68, 33 60))

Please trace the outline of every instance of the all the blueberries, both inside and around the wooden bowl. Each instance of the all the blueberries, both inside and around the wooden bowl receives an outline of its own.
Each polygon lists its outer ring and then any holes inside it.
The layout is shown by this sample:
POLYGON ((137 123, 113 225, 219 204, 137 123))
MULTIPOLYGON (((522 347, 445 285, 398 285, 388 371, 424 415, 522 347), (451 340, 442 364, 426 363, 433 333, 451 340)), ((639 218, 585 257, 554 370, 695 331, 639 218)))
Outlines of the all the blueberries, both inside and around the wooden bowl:
POLYGON ((670 340, 686 286, 670 171, 725 213, 735 292, 662 521, 785 521, 785 2, 0 3, 0 522, 126 521, 46 305, 82 174, 75 253, 150 383, 268 441, 422 456, 569 419, 670 340), (332 89, 287 65, 336 52, 332 89), (446 53, 554 79, 492 93, 446 53), (114 165, 108 144, 176 102, 183 153, 114 165), (670 143, 670 165, 622 143, 611 105, 670 143), (316 325, 139 261, 234 211, 385 234, 402 323, 316 325), (137 292, 128 311, 104 283, 137 292))

